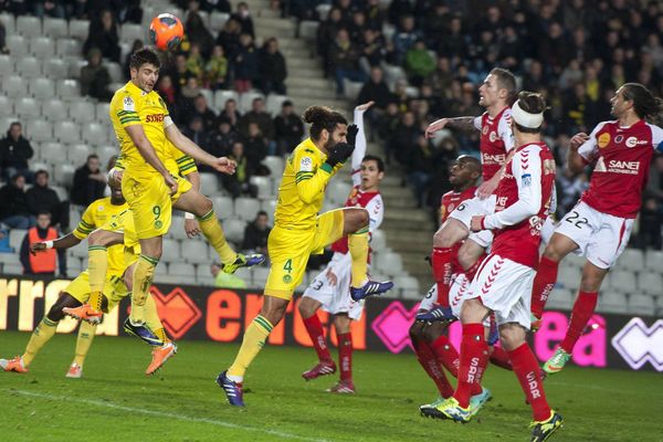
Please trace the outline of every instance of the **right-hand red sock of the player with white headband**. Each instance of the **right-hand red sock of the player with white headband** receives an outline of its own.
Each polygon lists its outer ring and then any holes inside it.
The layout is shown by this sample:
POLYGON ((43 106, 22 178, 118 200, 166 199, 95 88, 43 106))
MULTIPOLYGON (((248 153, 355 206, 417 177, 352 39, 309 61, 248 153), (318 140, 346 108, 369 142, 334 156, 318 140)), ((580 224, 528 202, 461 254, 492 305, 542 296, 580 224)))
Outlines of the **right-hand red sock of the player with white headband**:
POLYGON ((532 407, 534 420, 544 421, 550 418, 550 407, 546 400, 544 382, 541 381, 541 369, 527 343, 509 351, 508 356, 520 387, 525 391, 527 402, 532 407))

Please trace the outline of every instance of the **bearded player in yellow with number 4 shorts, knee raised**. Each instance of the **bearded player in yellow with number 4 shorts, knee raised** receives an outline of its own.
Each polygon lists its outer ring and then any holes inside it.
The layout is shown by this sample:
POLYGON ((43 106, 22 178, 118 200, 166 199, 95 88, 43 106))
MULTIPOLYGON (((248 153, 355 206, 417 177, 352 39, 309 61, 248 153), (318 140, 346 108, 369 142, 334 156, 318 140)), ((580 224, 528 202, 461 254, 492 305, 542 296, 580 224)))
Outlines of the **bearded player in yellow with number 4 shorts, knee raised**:
POLYGON ((368 278, 369 214, 366 209, 343 208, 318 214, 329 179, 352 154, 357 127, 348 127, 343 115, 324 106, 307 108, 304 120, 311 124, 311 137, 291 154, 278 188, 274 229, 267 240, 272 266, 262 309, 244 332, 234 362, 217 378, 228 401, 235 407, 244 406, 242 382, 246 368, 283 318, 312 253, 320 253, 326 245, 348 235, 352 299, 378 295, 393 286, 391 282, 368 278))

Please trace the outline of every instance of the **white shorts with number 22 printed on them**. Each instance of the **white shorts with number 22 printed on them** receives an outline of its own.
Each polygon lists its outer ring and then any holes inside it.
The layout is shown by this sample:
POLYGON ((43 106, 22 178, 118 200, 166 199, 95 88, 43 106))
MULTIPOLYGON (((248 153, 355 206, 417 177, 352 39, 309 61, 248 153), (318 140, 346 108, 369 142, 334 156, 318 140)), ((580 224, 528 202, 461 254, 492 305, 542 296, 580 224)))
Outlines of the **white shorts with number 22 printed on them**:
POLYGON ((632 219, 599 212, 580 201, 561 219, 555 233, 578 244, 577 254, 597 267, 610 269, 627 248, 632 229, 632 219))

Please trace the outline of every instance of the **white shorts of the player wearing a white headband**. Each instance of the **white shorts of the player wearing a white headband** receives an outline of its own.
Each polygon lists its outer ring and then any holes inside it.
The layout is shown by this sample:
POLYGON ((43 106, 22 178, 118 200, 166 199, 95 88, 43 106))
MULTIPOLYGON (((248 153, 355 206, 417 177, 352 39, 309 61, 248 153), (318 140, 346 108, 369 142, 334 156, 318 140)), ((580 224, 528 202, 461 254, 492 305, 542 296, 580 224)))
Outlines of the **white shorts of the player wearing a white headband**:
POLYGON ((466 298, 481 297, 495 312, 497 325, 530 327, 532 285, 536 272, 527 265, 492 254, 483 262, 466 298))

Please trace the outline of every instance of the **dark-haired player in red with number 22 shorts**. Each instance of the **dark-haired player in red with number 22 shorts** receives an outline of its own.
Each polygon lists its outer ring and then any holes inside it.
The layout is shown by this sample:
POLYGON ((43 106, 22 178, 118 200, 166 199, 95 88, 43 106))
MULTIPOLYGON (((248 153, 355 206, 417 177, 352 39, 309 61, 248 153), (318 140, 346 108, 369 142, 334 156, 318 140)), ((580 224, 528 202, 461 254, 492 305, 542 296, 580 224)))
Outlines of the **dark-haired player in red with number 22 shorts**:
POLYGON ((589 136, 580 133, 571 138, 568 168, 579 172, 593 164, 593 172, 589 189, 555 230, 534 281, 532 313, 540 319, 559 262, 571 252, 587 257, 567 334, 544 365, 549 375, 569 361, 593 315, 601 283, 629 243, 654 151, 663 151, 663 129, 646 123, 661 116, 660 98, 641 84, 627 83, 611 103, 615 120, 599 123, 589 136))

